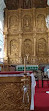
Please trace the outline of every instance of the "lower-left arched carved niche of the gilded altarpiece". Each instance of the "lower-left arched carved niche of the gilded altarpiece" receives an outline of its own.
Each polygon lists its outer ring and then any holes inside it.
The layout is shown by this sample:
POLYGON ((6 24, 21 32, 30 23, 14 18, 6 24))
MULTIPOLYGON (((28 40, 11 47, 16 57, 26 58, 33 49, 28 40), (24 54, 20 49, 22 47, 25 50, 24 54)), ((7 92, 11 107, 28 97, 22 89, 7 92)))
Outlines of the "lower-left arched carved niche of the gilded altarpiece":
POLYGON ((18 40, 12 39, 10 41, 10 54, 9 54, 9 62, 11 64, 18 63, 18 57, 19 57, 19 47, 18 47, 18 40))

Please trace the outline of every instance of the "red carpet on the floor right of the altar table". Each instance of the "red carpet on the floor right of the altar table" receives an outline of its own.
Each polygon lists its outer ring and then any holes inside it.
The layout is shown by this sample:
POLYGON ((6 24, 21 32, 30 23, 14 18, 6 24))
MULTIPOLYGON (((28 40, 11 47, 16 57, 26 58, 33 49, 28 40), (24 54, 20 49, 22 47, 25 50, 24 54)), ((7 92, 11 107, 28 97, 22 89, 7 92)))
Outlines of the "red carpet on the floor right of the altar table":
POLYGON ((49 91, 47 81, 44 81, 44 87, 41 87, 41 81, 39 81, 39 88, 35 88, 35 110, 34 111, 49 111, 49 91))

